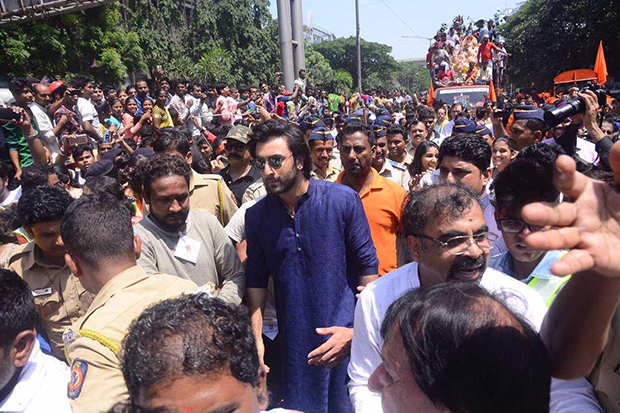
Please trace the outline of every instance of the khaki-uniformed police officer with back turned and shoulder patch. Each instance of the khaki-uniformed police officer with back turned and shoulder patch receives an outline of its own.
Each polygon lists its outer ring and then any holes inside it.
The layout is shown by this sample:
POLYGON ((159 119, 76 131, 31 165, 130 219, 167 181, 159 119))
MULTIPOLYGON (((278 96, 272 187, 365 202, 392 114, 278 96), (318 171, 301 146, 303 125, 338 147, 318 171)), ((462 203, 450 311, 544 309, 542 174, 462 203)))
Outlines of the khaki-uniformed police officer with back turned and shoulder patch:
POLYGON ((74 413, 108 411, 127 400, 119 350, 129 325, 154 303, 196 285, 179 277, 146 272, 136 264, 141 242, 127 208, 107 195, 75 201, 62 221, 67 265, 95 299, 65 331, 71 365, 68 396, 74 413))

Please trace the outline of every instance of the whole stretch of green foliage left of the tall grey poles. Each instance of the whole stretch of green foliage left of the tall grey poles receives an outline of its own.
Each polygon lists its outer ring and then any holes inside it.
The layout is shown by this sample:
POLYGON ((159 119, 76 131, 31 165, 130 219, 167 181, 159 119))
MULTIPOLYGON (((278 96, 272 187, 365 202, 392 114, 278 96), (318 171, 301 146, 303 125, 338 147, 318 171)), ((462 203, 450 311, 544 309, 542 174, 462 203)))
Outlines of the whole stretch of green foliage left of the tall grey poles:
POLYGON ((123 0, 7 26, 0 48, 3 75, 89 73, 113 84, 158 65, 197 81, 258 84, 280 60, 269 0, 123 0))

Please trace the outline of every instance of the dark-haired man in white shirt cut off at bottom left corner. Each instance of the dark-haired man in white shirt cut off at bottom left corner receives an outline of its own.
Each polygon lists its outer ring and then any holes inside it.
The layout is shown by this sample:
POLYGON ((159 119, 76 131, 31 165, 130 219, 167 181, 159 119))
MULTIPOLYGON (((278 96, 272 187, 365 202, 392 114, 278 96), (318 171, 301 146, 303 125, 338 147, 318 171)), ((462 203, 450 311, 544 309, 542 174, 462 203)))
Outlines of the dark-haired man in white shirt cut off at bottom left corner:
POLYGON ((69 367, 41 352, 36 322, 28 284, 0 270, 0 411, 71 413, 69 367))

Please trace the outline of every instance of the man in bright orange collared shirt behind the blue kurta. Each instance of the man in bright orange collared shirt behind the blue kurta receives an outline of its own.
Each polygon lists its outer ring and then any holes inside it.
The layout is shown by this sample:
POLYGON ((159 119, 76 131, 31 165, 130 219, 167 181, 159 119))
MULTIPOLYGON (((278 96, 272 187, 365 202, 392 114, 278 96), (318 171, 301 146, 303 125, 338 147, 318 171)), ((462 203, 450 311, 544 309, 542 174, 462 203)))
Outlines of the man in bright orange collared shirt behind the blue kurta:
POLYGON ((360 194, 379 258, 379 276, 398 268, 396 235, 407 192, 372 168, 374 132, 367 125, 347 125, 338 139, 344 170, 336 183, 360 194))

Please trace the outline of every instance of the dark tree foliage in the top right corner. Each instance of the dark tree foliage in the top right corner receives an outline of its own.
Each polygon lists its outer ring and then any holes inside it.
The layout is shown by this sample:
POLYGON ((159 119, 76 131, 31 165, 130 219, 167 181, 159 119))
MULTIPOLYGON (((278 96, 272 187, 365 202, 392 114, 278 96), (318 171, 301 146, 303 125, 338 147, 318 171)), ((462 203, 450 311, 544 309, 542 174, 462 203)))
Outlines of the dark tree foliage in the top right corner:
POLYGON ((619 20, 619 0, 528 1, 500 26, 513 55, 509 81, 549 88, 566 70, 592 68, 601 40, 609 74, 620 77, 620 42, 613 29, 619 20))

